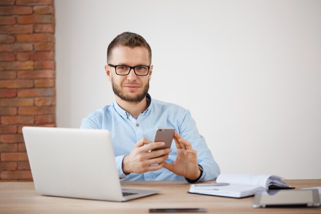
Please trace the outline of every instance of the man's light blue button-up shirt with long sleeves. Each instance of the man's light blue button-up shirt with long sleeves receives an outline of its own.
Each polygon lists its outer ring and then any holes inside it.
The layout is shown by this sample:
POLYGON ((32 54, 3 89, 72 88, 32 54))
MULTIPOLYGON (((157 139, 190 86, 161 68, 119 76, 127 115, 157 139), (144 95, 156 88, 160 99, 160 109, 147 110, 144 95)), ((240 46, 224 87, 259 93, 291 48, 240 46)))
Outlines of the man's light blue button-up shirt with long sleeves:
MULTIPOLYGON (((103 109, 98 109, 83 119, 81 128, 108 129, 111 132, 118 176, 122 180, 130 181, 179 181, 185 180, 166 168, 149 171, 142 174, 123 172, 122 164, 134 145, 143 137, 153 141, 157 128, 175 128, 185 140, 192 143, 197 151, 197 162, 203 167, 203 174, 199 181, 215 180, 220 173, 219 167, 213 159, 212 153, 206 145, 205 139, 197 131, 195 121, 190 112, 175 104, 152 100, 147 94, 149 107, 138 118, 134 118, 122 109, 115 101, 103 109)), ((172 152, 166 160, 172 163, 176 159, 177 148, 172 142, 172 152)))

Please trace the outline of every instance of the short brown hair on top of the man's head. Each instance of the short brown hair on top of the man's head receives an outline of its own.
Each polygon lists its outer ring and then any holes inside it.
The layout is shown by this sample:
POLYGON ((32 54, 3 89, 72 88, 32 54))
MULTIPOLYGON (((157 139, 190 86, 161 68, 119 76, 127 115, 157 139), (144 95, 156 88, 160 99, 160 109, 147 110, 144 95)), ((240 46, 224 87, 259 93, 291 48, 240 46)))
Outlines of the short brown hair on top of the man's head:
POLYGON ((145 47, 148 50, 149 55, 149 63, 152 63, 152 49, 150 48, 149 44, 146 42, 143 36, 138 35, 137 33, 132 32, 124 32, 117 35, 113 41, 108 45, 107 48, 107 64, 108 59, 111 58, 112 50, 117 46, 126 46, 130 48, 135 47, 145 47))

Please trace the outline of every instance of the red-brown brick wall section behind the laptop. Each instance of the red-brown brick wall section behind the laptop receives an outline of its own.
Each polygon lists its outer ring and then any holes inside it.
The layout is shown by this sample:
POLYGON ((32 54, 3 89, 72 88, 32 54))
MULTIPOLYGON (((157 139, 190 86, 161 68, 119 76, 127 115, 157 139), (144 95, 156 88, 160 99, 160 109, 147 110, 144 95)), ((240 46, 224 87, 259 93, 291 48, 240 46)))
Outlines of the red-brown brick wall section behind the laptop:
POLYGON ((0 0, 0 181, 32 180, 23 126, 55 126, 53 0, 0 0))

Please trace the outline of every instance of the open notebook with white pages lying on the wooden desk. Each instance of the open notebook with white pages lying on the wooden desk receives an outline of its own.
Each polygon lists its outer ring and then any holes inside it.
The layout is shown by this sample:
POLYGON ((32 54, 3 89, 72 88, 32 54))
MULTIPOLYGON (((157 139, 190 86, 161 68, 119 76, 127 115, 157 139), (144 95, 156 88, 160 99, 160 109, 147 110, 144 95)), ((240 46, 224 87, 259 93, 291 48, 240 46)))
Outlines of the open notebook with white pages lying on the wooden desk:
POLYGON ((258 190, 290 188, 293 187, 286 184, 282 178, 269 174, 221 173, 216 183, 190 185, 189 193, 243 198, 253 196, 258 190))

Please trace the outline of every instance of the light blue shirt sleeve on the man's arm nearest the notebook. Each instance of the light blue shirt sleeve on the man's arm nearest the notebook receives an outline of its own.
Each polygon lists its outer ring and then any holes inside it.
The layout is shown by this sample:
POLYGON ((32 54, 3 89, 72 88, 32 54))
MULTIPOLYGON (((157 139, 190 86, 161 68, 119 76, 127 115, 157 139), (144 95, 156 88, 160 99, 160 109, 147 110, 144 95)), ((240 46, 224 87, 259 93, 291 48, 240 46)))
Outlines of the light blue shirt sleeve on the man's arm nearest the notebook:
POLYGON ((197 162, 203 167, 202 177, 200 177, 197 182, 216 180, 220 173, 219 167, 214 161, 211 150, 207 147, 204 137, 198 133, 196 123, 188 110, 185 110, 178 129, 179 135, 190 142, 193 149, 197 151, 197 162))

